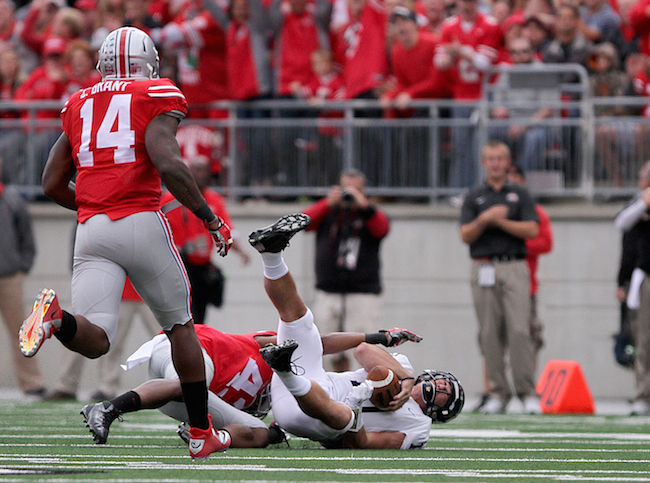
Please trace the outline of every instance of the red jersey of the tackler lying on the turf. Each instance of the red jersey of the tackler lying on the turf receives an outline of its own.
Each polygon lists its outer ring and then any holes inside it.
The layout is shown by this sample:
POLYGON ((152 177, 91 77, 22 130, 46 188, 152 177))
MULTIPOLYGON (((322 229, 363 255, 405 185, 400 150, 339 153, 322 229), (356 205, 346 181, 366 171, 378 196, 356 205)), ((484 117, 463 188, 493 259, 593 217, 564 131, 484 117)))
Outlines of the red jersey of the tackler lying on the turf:
POLYGON ((194 330, 214 363, 210 391, 237 409, 253 404, 273 376, 254 336, 275 333, 225 334, 207 325, 195 325, 194 330))

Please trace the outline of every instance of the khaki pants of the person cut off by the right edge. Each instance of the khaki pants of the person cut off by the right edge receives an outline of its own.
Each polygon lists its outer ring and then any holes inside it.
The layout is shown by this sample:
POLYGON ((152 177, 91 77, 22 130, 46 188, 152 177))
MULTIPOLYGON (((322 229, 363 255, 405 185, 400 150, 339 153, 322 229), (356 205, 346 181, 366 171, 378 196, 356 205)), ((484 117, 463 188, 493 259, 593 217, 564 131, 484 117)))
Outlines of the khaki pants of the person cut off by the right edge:
POLYGON ((632 333, 636 345, 635 399, 650 404, 650 278, 647 275, 641 284, 640 298, 639 310, 631 318, 632 333))

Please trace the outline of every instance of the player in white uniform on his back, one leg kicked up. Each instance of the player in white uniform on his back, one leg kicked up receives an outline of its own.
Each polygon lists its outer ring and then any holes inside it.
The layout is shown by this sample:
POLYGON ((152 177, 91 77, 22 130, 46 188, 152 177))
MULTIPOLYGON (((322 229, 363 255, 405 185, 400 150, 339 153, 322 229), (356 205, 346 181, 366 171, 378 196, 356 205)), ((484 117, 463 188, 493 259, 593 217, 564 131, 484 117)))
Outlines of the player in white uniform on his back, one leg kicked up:
MULTIPOLYGON (((465 396, 460 382, 441 371, 427 370, 416 378, 405 356, 394 357, 371 343, 354 351, 363 369, 347 373, 323 369, 320 334, 281 253, 309 223, 307 215, 288 215, 249 236, 249 243, 262 254, 264 287, 280 316, 279 345, 261 349, 275 373, 271 399, 276 421, 290 433, 327 447, 422 447, 432 422, 449 421, 461 411, 465 396), (388 411, 375 412, 367 402, 373 387, 366 376, 377 365, 388 367, 401 381, 388 411)), ((415 339, 399 342, 403 340, 415 339)))

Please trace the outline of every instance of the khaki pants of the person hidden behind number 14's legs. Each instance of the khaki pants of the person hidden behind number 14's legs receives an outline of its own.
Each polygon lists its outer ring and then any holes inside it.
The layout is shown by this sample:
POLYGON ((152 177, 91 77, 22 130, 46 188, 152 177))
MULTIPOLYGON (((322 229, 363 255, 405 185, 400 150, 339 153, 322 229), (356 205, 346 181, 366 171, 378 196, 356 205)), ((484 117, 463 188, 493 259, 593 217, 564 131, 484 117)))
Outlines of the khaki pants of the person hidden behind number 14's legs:
MULTIPOLYGON (((140 316, 140 320, 142 320, 147 333, 151 337, 160 332, 160 325, 146 304, 135 301, 122 301, 115 340, 111 344, 108 353, 97 361, 99 374, 96 389, 111 397, 115 396, 120 389, 120 375, 122 373, 120 363, 123 362, 121 359, 124 356, 124 345, 136 315, 140 316)), ((81 354, 67 351, 61 361, 61 377, 54 389, 76 394, 85 361, 86 358, 81 354)))

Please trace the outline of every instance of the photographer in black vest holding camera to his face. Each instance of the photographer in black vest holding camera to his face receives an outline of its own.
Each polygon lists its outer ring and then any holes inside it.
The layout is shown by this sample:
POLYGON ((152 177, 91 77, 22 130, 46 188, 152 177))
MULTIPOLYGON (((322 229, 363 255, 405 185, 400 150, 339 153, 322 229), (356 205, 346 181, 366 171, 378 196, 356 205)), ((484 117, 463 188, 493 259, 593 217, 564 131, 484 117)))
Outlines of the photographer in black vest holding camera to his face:
MULTIPOLYGON (((339 185, 304 211, 316 232, 316 299, 319 329, 374 332, 381 318, 379 247, 388 234, 386 214, 365 195, 366 177, 356 169, 341 173, 339 185)), ((349 369, 341 354, 335 371, 349 369)))

